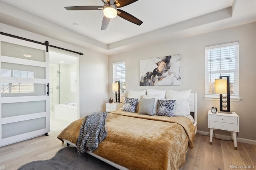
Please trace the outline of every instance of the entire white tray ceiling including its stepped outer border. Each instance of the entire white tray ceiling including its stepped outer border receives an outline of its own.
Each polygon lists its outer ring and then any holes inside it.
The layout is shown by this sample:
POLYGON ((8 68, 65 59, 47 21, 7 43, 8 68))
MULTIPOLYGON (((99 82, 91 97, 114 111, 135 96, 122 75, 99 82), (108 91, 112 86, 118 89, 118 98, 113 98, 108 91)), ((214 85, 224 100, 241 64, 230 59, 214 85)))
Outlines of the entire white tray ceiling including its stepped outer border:
POLYGON ((101 30, 102 10, 68 11, 65 6, 103 6, 103 2, 0 0, 0 22, 112 54, 134 49, 142 44, 163 42, 177 36, 193 36, 256 21, 256 0, 138 0, 120 9, 142 20, 141 26, 117 16, 110 20, 106 30, 101 30), (10 17, 23 20, 26 25, 18 25, 17 22, 10 21, 10 17), (29 24, 33 28, 28 27, 29 24), (48 30, 42 31, 42 28, 48 30))

